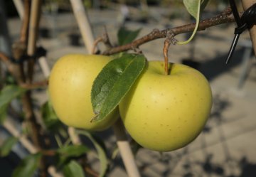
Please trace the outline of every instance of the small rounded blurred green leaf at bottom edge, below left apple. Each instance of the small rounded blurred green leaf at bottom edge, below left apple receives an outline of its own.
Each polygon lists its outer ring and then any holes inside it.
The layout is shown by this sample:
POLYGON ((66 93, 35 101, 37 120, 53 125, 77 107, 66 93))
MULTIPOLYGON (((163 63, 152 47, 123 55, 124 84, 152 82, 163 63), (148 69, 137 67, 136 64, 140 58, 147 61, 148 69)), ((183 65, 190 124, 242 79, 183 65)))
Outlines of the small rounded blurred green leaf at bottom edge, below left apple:
POLYGON ((82 170, 82 166, 77 161, 70 161, 63 167, 63 173, 65 177, 85 177, 85 173, 82 170))

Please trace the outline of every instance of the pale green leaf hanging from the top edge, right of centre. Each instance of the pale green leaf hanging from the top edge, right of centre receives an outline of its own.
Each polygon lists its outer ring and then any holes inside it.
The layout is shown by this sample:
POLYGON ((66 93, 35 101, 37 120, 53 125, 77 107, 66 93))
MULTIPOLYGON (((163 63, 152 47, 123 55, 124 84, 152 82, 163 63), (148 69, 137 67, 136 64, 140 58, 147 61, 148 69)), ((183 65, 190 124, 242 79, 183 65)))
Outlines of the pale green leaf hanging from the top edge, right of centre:
POLYGON ((205 9, 206 5, 208 4, 209 0, 183 0, 183 4, 185 5, 187 11, 191 16, 197 19, 198 14, 198 3, 201 1, 200 9, 203 11, 205 9))

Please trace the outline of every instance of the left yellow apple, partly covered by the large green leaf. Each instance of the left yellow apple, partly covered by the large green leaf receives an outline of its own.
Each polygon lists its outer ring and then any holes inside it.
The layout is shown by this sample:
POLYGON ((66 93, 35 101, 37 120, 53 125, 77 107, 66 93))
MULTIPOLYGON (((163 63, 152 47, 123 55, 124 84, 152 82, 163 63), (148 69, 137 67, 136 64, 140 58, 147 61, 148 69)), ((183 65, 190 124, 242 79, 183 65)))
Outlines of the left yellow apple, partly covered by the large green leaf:
POLYGON ((114 109, 101 122, 90 122, 95 117, 90 100, 92 83, 110 60, 112 58, 103 55, 70 54, 55 63, 48 89, 61 122, 70 127, 102 131, 117 120, 118 109, 114 109))

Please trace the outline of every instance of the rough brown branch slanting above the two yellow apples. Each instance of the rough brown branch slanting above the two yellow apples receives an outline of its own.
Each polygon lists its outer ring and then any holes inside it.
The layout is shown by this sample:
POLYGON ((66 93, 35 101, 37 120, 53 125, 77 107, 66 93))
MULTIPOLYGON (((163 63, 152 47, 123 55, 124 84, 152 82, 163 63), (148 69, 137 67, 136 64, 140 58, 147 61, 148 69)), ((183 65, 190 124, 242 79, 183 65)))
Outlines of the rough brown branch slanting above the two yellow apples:
MULTIPOLYGON (((223 23, 231 23, 234 22, 234 16, 232 14, 232 10, 230 9, 230 7, 226 8, 221 14, 219 14, 218 16, 214 16, 212 18, 206 18, 202 21, 200 21, 199 26, 198 26, 198 31, 203 31, 206 28, 209 28, 211 26, 217 26, 223 23)), ((174 34, 174 36, 180 34, 180 33, 188 33, 193 31, 193 29, 195 28, 196 23, 190 23, 184 26, 178 26, 178 27, 174 27, 174 28, 167 28, 164 29, 162 31, 159 31, 157 29, 155 29, 154 31, 152 31, 151 33, 149 33, 146 36, 143 36, 142 38, 139 38, 135 41, 133 41, 132 43, 128 43, 126 45, 120 45, 114 48, 110 48, 109 50, 105 50, 105 52, 103 53, 103 55, 112 55, 114 53, 119 53, 122 51, 127 51, 127 50, 132 50, 133 48, 138 48, 139 45, 142 45, 144 43, 147 43, 149 41, 153 41, 155 39, 158 38, 166 38, 166 34, 168 31, 172 31, 172 33, 174 34)))

